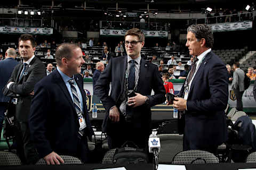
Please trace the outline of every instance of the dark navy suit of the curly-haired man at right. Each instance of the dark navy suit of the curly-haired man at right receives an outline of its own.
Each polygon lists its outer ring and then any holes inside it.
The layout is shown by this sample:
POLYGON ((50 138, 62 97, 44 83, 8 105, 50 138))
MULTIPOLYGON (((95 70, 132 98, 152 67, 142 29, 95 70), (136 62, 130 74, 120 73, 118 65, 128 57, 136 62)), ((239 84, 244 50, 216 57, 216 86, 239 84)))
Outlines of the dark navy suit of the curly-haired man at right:
MULTIPOLYGON (((190 149, 221 145, 227 140, 224 110, 228 103, 227 69, 214 53, 206 54, 187 99, 184 139, 190 149)), ((180 90, 182 97, 184 85, 180 90)), ((181 123, 181 122, 179 122, 181 123)))

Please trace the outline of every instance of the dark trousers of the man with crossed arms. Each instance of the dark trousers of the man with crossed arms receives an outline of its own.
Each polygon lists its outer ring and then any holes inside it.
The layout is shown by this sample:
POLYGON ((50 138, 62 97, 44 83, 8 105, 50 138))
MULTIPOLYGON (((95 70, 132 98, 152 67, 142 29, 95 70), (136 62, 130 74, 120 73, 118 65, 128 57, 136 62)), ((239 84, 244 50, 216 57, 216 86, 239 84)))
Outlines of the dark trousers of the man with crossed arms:
POLYGON ((30 139, 28 122, 17 121, 17 154, 21 159, 22 164, 35 164, 38 154, 34 142, 30 139))

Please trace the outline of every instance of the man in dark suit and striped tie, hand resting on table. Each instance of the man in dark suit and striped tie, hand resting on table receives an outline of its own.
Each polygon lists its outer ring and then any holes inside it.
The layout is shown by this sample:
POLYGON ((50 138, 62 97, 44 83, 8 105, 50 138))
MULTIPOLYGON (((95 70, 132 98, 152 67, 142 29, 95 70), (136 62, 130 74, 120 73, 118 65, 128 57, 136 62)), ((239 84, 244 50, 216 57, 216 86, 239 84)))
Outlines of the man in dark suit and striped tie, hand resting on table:
POLYGON ((82 50, 77 44, 61 44, 55 53, 57 69, 35 86, 31 103, 30 131, 40 158, 47 164, 63 163, 59 155, 88 162, 87 137, 93 130, 86 108, 81 66, 82 50))

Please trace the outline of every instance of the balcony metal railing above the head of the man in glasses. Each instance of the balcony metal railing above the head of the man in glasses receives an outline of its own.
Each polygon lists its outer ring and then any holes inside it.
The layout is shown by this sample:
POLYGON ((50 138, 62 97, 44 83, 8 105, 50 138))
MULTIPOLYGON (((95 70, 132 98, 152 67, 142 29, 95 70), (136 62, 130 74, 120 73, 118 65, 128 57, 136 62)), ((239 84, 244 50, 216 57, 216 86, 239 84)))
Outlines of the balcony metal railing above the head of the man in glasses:
POLYGON ((123 21, 100 21, 101 29, 132 29, 142 30, 167 30, 167 23, 162 22, 123 22, 123 21))

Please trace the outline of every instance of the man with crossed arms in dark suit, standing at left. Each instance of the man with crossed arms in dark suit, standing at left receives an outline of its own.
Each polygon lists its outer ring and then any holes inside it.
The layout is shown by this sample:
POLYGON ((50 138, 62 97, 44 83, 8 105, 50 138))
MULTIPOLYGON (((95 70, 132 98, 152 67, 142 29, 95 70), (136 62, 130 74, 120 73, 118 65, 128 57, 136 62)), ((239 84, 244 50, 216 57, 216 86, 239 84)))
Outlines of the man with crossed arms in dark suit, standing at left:
POLYGON ((35 57, 36 43, 33 36, 24 34, 19 38, 19 52, 23 62, 18 64, 4 89, 4 95, 17 98, 15 119, 17 120, 17 153, 23 164, 36 163, 38 156, 30 140, 28 115, 34 86, 45 76, 45 65, 35 57))

